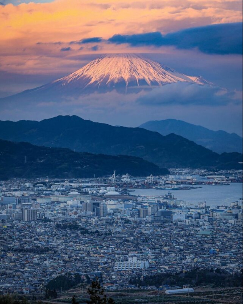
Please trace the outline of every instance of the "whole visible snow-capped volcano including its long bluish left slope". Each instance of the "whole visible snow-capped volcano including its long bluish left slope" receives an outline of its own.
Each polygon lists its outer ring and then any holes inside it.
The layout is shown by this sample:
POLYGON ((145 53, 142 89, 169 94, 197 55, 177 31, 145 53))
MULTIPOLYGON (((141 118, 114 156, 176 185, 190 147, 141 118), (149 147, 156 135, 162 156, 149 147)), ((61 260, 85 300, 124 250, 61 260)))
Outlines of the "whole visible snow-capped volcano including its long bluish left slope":
POLYGON ((57 101, 60 98, 113 90, 129 94, 175 82, 213 85, 200 76, 187 76, 135 54, 108 54, 92 60, 68 76, 1 98, 0 101, 57 101))

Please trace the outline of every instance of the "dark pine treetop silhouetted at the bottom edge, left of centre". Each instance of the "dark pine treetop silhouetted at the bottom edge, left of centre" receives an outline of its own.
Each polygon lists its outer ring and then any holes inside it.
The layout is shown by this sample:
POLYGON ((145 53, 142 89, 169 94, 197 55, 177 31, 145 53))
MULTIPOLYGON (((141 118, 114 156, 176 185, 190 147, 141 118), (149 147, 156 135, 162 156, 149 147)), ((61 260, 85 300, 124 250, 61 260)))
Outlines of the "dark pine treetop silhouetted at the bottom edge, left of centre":
POLYGON ((107 298, 104 295, 104 289, 101 287, 98 278, 92 281, 90 288, 88 288, 88 294, 90 295, 90 300, 86 301, 87 304, 115 304, 112 298, 107 298))

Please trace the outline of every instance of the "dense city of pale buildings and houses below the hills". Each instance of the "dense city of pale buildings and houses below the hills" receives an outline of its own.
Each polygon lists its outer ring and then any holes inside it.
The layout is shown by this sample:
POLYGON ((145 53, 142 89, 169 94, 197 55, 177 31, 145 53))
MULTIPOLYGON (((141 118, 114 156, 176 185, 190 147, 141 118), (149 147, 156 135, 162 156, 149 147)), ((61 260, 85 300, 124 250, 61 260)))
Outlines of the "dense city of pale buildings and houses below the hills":
MULTIPOLYGON (((46 286, 52 280, 78 273, 82 287, 75 292, 81 301, 87 297, 86 286, 97 277, 102 278, 103 288, 118 303, 120 292, 125 298, 130 292, 137 292, 134 295, 138 300, 156 302, 156 290, 161 292, 161 299, 163 295, 165 299, 169 297, 170 292, 190 292, 196 296, 194 301, 206 292, 211 303, 214 289, 220 290, 220 301, 228 301, 231 292, 233 302, 240 301, 242 198, 227 205, 217 201, 214 205, 208 205, 207 201, 192 203, 180 199, 177 193, 182 190, 173 187, 181 182, 201 181, 201 187, 225 189, 231 187, 232 178, 232 184, 241 185, 242 171, 221 171, 217 179, 224 183, 218 185, 209 183, 215 176, 207 170, 179 169, 173 173, 147 178, 116 176, 114 172, 104 178, 85 180, 3 181, 2 292, 44 299, 46 286), (153 194, 158 185, 167 185, 162 187, 165 195, 153 194), (134 195, 136 189, 147 189, 151 195, 134 195), (167 189, 171 191, 167 193, 167 189), (167 273, 176 276, 195 269, 217 270, 232 277, 238 274, 238 285, 232 282, 225 286, 217 282, 178 285, 173 280, 171 285, 145 283, 156 276, 167 273)), ((190 187, 183 191, 192 193, 197 189, 190 187)), ((70 295, 65 285, 62 288, 61 292, 57 288, 55 297, 67 301, 70 295)))

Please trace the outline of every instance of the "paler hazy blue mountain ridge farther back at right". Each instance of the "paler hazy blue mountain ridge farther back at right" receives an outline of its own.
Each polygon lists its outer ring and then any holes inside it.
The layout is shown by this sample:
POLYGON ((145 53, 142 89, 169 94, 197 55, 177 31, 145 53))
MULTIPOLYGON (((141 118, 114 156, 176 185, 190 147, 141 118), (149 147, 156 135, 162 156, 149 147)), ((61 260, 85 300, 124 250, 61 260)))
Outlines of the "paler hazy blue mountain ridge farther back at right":
POLYGON ((223 130, 213 131, 179 119, 151 120, 139 127, 158 132, 163 136, 175 133, 219 154, 242 153, 242 137, 236 133, 227 133, 223 130))

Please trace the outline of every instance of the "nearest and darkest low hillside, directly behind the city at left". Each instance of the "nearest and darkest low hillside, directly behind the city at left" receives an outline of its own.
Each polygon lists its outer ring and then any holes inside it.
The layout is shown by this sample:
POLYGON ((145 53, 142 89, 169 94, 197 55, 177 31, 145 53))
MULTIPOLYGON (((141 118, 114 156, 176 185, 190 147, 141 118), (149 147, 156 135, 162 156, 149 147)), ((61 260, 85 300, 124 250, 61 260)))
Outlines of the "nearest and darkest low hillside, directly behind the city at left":
POLYGON ((36 178, 92 178, 129 173, 133 176, 169 174, 165 168, 133 156, 110 156, 78 153, 64 148, 34 146, 0 140, 0 179, 36 178))

